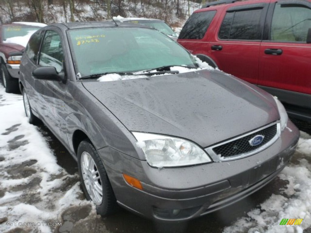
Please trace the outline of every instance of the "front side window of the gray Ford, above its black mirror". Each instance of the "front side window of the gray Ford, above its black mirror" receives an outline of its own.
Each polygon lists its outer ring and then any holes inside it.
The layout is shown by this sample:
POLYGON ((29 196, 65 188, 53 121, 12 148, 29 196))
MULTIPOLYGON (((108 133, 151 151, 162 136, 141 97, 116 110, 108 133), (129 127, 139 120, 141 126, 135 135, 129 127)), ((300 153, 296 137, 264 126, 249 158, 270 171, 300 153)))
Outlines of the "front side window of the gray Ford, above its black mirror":
POLYGON ((58 33, 46 31, 39 56, 40 66, 54 66, 57 72, 63 68, 63 47, 58 33))

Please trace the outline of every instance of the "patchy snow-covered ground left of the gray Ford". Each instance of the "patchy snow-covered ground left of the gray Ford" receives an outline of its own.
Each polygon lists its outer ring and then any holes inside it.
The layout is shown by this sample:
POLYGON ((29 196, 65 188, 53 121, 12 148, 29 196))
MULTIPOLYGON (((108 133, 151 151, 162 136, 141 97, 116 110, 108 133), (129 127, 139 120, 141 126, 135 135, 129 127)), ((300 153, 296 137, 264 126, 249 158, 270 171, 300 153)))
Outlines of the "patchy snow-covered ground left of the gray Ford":
MULTIPOLYGON (((67 208, 90 205, 81 200, 78 175, 58 166, 43 136, 28 123, 22 96, 7 94, 1 86, 0 112, 0 219, 5 219, 0 232, 19 231, 18 225, 8 226, 8 221, 60 223, 67 208)), ((55 226, 20 228, 54 232, 55 226)))

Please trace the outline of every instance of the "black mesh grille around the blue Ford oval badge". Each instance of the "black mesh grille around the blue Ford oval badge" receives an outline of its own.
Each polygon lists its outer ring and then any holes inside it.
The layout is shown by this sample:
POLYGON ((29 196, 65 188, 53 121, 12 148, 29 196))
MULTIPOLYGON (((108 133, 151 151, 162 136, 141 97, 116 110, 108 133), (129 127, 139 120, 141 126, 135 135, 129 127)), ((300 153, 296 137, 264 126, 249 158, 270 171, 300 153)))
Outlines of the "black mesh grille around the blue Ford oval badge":
POLYGON ((268 143, 276 135, 276 133, 277 124, 274 124, 253 134, 214 147, 213 150, 219 157, 232 157, 239 154, 248 153, 268 143), (256 135, 263 135, 265 137, 261 144, 257 146, 251 146, 249 144, 249 140, 256 135))

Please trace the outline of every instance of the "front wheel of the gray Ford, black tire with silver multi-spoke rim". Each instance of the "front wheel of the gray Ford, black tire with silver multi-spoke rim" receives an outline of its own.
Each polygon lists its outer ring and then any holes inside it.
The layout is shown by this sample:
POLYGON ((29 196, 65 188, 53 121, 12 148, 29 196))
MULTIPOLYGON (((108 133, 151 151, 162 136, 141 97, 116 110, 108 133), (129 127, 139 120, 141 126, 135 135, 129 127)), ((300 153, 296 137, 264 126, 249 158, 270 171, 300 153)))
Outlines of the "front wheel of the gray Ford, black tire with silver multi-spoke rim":
POLYGON ((87 200, 96 204, 97 213, 107 216, 118 209, 118 204, 109 182, 104 164, 89 140, 79 144, 78 169, 87 200))

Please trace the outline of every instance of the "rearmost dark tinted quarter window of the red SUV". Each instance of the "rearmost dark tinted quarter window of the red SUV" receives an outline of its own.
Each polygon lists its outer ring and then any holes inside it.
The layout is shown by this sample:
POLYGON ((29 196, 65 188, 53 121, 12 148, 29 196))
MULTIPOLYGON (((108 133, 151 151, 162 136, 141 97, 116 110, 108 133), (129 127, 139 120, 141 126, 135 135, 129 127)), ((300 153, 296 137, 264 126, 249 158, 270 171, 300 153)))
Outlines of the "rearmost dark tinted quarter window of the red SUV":
POLYGON ((202 39, 215 14, 216 11, 192 14, 183 26, 178 39, 202 39))

